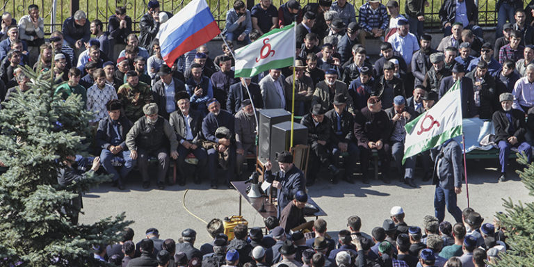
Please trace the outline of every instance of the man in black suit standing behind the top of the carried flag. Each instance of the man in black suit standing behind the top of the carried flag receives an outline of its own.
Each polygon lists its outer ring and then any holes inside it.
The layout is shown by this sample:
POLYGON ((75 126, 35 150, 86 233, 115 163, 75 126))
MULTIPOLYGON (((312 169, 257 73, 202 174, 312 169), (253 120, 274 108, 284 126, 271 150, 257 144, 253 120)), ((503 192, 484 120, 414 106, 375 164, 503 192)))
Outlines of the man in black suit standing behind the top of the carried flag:
POLYGON ((442 83, 439 85, 439 99, 453 87, 456 81, 460 80, 460 90, 462 91, 462 117, 473 118, 478 114, 475 106, 473 81, 464 77, 464 75, 464 67, 460 64, 454 65, 453 75, 443 78, 442 83))

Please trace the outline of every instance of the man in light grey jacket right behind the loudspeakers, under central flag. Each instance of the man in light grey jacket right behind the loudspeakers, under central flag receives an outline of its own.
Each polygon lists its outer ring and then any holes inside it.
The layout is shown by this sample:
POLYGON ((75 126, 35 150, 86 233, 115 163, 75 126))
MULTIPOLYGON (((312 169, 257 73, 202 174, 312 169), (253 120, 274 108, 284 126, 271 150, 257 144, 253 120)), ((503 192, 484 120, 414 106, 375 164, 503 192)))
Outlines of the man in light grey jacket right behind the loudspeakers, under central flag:
POLYGON ((269 74, 259 81, 264 108, 286 108, 286 81, 280 77, 281 74, 280 69, 269 70, 269 74))

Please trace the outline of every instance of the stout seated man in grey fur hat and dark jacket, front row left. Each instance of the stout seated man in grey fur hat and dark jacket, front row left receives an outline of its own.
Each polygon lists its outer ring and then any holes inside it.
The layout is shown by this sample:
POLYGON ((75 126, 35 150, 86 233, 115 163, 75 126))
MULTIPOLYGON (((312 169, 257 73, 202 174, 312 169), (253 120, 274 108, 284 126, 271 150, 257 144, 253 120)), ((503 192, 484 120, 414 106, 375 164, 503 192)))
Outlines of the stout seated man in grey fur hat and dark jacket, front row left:
POLYGON ((130 158, 138 159, 139 171, 143 177, 143 188, 150 186, 149 158, 157 157, 158 188, 164 189, 165 175, 167 175, 169 168, 169 149, 165 144, 170 143, 170 156, 172 159, 177 159, 178 141, 168 120, 158 115, 158 105, 146 104, 143 106, 143 113, 145 116, 137 120, 126 135, 126 145, 130 150, 130 158))

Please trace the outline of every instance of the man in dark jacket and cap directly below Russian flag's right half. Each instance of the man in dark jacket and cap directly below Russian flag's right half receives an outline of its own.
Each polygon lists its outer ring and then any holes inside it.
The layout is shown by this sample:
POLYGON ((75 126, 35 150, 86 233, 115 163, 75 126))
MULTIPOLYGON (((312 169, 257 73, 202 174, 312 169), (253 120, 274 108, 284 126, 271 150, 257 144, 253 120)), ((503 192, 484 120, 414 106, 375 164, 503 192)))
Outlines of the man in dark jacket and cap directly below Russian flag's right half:
POLYGON ((202 74, 202 65, 191 64, 191 77, 187 79, 186 85, 193 109, 207 115, 207 102, 213 98, 213 86, 211 80, 202 74))

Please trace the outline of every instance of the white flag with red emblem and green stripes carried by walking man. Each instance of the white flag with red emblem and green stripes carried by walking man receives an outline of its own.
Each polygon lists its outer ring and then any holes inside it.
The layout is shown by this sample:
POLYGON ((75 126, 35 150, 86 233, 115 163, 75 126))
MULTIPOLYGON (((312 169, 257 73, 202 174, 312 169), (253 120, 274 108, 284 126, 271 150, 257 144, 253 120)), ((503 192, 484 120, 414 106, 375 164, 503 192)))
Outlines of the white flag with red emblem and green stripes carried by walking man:
POLYGON ((462 134, 462 90, 460 80, 430 110, 405 126, 404 158, 437 147, 462 134))

